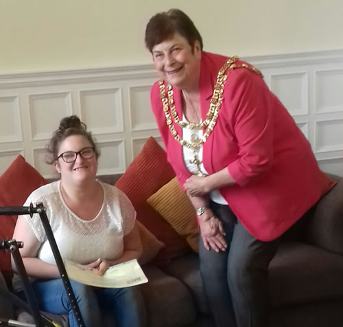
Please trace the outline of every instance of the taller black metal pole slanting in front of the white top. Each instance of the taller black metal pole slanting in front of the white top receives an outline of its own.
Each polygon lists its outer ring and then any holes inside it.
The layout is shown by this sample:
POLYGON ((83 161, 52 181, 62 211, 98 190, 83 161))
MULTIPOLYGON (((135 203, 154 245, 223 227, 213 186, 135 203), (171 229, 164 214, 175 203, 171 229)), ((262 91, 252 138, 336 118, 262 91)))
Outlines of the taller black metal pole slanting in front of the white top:
POLYGON ((60 276, 62 278, 62 282, 64 285, 64 289, 67 291, 67 296, 69 298, 69 302, 71 304, 71 309, 73 309, 73 313, 75 315, 76 321, 79 327, 84 327, 84 321, 82 319, 82 315, 80 312, 80 308, 78 306, 78 302, 76 301, 75 294, 73 289, 71 288, 71 283, 69 277, 67 275, 67 270, 65 270, 64 263, 60 254, 60 250, 58 250, 58 246, 56 244, 56 239, 54 237, 54 233, 51 230, 51 226, 49 224, 49 219, 47 218, 47 213, 45 212, 45 207, 42 202, 36 203, 36 212, 40 215, 40 220, 42 221, 45 233, 47 235, 47 239, 49 241, 51 251, 54 254, 54 258, 56 261, 56 265, 58 267, 58 271, 60 272, 60 276))

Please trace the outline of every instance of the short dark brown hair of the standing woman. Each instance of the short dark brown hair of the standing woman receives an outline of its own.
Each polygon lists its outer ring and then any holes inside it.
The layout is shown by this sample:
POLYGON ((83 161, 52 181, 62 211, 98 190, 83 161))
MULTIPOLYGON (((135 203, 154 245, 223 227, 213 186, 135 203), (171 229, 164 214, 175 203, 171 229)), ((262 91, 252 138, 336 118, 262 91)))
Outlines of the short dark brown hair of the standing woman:
POLYGON ((145 28, 145 46, 152 53, 152 48, 171 38, 175 33, 187 39, 193 48, 194 42, 199 41, 203 48, 202 37, 191 18, 179 9, 159 12, 150 18, 145 28))

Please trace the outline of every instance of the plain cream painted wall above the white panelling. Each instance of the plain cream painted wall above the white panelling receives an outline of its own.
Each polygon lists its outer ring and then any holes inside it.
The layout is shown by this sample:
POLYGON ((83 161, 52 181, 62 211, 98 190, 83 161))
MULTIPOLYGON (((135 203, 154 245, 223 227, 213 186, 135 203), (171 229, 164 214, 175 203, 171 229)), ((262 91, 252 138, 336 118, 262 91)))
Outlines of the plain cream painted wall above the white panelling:
POLYGON ((343 49, 342 0, 0 0, 0 75, 148 64, 145 25, 171 7, 212 52, 343 49))

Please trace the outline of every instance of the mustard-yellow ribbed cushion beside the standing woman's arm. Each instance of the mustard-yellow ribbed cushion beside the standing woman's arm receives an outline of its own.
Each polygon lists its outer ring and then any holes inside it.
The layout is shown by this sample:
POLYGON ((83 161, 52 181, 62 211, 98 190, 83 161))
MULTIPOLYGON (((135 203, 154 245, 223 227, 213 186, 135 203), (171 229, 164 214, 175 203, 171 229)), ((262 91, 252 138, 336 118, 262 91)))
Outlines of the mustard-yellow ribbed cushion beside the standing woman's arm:
POLYGON ((193 251, 198 252, 199 228, 196 211, 183 192, 176 177, 147 199, 151 205, 182 237, 193 251))

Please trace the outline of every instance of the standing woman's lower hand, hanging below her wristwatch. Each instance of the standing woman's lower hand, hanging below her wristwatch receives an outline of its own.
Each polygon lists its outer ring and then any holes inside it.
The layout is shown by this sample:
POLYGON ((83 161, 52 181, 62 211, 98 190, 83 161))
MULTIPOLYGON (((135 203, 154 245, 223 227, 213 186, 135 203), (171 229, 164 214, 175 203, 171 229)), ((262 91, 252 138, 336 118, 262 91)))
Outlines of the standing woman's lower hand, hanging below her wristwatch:
POLYGON ((220 252, 220 250, 225 251, 228 247, 224 238, 223 223, 214 215, 209 219, 200 220, 200 232, 207 250, 212 248, 215 252, 220 252))

